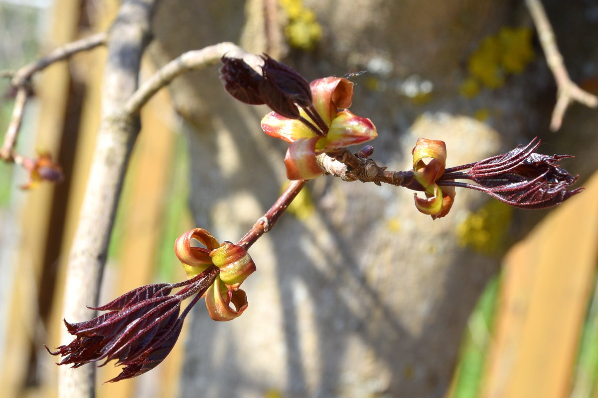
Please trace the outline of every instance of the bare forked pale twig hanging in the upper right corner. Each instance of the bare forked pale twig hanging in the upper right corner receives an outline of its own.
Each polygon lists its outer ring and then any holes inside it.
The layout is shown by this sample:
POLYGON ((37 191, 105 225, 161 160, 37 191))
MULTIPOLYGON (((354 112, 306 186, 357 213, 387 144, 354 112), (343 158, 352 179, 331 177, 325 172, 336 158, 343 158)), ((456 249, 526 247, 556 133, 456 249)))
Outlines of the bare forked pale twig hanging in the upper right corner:
POLYGON ((559 52, 554 31, 546 16, 546 11, 540 0, 526 0, 527 8, 532 15, 533 23, 538 30, 538 37, 544 49, 548 67, 553 72, 557 82, 557 103, 554 106, 553 117, 550 122, 550 129, 557 131, 563 122, 563 116, 570 103, 577 101, 589 107, 598 106, 598 97, 581 90, 578 85, 569 78, 569 73, 563 63, 563 56, 559 52))

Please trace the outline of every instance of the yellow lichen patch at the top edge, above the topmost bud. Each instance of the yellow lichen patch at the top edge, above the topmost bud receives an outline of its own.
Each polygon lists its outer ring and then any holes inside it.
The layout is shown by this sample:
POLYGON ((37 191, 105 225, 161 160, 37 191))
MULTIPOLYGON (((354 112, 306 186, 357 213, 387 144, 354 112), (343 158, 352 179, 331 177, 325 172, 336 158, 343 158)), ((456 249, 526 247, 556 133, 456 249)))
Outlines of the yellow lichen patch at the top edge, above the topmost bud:
POLYGON ((316 14, 303 5, 302 0, 279 0, 288 17, 285 35, 291 47, 313 50, 322 38, 322 26, 316 14))

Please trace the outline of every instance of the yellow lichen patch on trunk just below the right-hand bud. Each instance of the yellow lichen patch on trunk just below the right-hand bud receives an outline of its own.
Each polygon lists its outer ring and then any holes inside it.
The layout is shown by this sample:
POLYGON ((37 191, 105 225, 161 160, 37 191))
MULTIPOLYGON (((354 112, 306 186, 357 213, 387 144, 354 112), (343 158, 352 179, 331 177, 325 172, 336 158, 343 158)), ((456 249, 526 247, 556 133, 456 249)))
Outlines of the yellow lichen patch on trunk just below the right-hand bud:
POLYGON ((484 254, 496 254, 504 245, 511 224, 512 208, 498 200, 490 200, 457 225, 460 246, 468 246, 484 254))

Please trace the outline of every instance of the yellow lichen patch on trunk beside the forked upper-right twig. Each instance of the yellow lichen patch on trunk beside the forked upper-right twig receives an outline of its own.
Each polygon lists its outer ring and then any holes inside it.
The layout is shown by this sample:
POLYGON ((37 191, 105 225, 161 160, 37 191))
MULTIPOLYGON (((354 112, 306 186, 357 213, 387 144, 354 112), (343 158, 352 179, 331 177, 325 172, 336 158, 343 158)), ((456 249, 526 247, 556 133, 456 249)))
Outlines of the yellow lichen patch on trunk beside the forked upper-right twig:
POLYGON ((505 84, 509 73, 521 73, 535 54, 532 31, 527 27, 502 27, 496 35, 483 39, 467 60, 468 78, 460 92, 465 97, 477 95, 474 82, 495 90, 505 84))

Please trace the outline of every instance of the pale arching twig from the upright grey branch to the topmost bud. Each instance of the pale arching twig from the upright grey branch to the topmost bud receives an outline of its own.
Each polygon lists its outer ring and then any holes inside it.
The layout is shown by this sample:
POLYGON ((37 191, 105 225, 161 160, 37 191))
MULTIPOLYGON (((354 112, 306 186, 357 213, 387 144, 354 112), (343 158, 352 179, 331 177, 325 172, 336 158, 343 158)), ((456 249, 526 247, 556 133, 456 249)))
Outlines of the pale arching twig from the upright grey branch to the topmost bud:
POLYGON ((190 70, 202 69, 209 64, 215 63, 222 58, 224 54, 238 53, 242 57, 246 54, 245 50, 230 42, 223 42, 202 50, 187 51, 179 55, 175 60, 170 61, 161 67, 151 78, 148 79, 139 89, 129 98, 124 106, 124 112, 130 115, 138 115, 141 108, 149 101, 156 92, 166 87, 177 76, 190 70))

